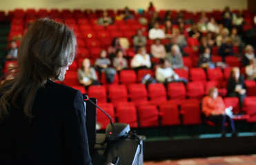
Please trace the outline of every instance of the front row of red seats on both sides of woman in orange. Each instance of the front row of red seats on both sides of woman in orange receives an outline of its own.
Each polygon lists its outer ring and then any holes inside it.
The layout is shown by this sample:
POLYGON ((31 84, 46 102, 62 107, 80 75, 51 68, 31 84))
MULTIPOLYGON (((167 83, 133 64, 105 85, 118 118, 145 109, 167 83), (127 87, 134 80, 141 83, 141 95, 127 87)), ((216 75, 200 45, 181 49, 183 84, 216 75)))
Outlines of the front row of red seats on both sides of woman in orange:
MULTIPOLYGON (((247 97, 243 109, 248 115, 235 116, 234 120, 246 120, 256 122, 256 115, 253 106, 256 105, 255 97, 247 97)), ((238 98, 224 98, 227 107, 233 106, 236 110, 238 98)), ((118 102, 115 106, 112 103, 99 102, 99 107, 104 109, 115 122, 128 123, 132 128, 153 127, 153 126, 174 126, 201 124, 201 107, 197 99, 182 100, 180 104, 175 101, 168 101, 159 104, 151 103, 136 105, 134 102, 118 102)), ((97 110, 97 122, 101 129, 106 129, 109 119, 104 113, 97 110)))

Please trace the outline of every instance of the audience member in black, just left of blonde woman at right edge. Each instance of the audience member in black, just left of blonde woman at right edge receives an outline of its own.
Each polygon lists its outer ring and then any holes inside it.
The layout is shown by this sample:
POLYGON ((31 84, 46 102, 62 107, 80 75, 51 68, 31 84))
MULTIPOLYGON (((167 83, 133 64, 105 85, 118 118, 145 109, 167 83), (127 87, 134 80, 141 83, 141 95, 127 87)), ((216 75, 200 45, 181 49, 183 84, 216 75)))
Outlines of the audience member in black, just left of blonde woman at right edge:
POLYGON ((235 55, 233 52, 233 42, 229 37, 228 39, 226 39, 226 43, 222 43, 221 46, 219 47, 218 54, 221 56, 222 61, 224 63, 226 56, 235 55))

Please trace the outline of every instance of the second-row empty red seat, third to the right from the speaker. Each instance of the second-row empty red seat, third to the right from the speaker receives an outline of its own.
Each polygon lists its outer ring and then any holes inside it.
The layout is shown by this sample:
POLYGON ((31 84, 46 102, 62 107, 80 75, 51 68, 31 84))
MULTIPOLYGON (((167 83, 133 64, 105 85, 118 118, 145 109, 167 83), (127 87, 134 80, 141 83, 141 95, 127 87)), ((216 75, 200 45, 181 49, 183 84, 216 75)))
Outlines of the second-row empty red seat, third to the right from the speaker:
POLYGON ((130 84, 128 86, 129 98, 135 104, 148 100, 148 91, 144 84, 130 84))

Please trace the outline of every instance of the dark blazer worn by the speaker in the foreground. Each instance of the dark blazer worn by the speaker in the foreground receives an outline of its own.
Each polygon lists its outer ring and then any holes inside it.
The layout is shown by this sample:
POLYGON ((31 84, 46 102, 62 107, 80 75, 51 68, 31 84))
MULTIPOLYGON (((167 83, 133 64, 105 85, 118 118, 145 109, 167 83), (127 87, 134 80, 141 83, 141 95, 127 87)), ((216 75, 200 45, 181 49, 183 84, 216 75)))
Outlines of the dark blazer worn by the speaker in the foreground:
POLYGON ((37 92, 30 120, 11 110, 0 121, 0 164, 91 164, 80 91, 48 81, 37 92))

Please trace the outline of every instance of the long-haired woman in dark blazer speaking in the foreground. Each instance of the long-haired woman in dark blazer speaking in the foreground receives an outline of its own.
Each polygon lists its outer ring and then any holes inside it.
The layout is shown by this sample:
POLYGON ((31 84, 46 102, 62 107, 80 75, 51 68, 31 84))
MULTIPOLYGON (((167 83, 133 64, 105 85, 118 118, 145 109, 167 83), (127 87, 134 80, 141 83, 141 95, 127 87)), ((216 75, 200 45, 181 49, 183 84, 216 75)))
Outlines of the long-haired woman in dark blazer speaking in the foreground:
POLYGON ((92 164, 81 92, 63 80, 76 38, 50 19, 32 23, 14 79, 0 86, 0 164, 92 164))

